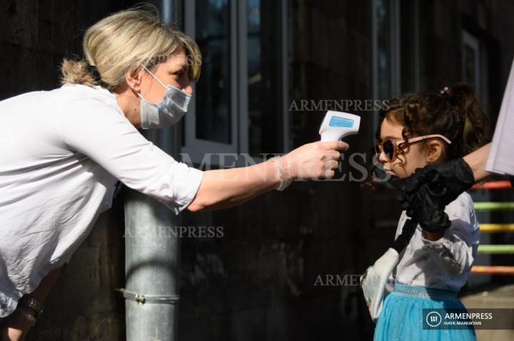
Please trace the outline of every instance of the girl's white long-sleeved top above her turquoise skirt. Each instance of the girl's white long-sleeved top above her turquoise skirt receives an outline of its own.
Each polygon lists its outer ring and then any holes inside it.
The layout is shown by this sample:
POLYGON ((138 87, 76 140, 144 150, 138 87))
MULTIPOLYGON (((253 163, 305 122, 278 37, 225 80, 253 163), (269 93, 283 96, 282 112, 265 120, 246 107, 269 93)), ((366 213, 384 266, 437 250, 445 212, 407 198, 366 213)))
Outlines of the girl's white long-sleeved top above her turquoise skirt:
MULTIPOLYGON (((458 291, 468 280, 480 238, 473 200, 464 192, 446 206, 445 212, 451 226, 439 240, 423 238, 418 225, 393 271, 396 282, 458 291)), ((396 238, 407 219, 403 211, 396 238)))

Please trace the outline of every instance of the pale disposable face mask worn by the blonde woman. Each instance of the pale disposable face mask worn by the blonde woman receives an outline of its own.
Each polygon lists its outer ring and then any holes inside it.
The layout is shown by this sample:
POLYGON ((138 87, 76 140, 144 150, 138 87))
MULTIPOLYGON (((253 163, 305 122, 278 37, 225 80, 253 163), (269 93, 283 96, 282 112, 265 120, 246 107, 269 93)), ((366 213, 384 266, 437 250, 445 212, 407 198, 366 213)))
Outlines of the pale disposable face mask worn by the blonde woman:
POLYGON ((191 95, 174 86, 165 86, 148 68, 142 64, 141 66, 143 66, 146 72, 150 73, 161 86, 166 88, 163 100, 158 104, 146 101, 143 96, 141 96, 141 93, 138 93, 139 98, 141 98, 141 128, 149 129, 173 126, 173 124, 180 121, 182 116, 187 113, 191 95))

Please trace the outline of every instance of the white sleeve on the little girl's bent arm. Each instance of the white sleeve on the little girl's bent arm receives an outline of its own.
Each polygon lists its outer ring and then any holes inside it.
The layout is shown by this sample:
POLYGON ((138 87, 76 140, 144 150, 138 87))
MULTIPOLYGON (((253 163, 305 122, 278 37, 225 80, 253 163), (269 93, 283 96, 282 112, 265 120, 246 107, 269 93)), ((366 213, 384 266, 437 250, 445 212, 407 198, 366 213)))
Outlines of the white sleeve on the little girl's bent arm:
POLYGON ((446 213, 451 220, 450 228, 442 238, 430 241, 421 238, 423 249, 428 250, 440 270, 451 276, 462 275, 473 265, 478 249, 480 230, 475 219, 473 201, 467 193, 450 203, 446 213))

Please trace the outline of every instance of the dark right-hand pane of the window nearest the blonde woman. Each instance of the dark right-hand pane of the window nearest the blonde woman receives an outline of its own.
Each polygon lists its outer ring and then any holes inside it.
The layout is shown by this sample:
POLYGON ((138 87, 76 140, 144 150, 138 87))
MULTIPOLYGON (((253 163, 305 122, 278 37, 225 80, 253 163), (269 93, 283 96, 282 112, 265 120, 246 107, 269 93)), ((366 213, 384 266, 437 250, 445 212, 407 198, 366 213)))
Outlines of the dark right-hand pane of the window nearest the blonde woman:
MULTIPOLYGON (((283 1, 285 4, 286 1, 283 1)), ((285 39, 280 1, 247 1, 247 54, 248 54, 248 153, 283 151, 283 74, 280 63, 285 39)))

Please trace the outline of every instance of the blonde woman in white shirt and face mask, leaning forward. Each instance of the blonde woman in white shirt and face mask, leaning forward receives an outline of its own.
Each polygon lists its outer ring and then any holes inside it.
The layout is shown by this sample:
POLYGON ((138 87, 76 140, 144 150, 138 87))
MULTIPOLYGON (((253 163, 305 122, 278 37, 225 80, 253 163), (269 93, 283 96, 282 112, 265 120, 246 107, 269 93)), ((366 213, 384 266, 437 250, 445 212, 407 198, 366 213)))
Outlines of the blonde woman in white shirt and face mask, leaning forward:
POLYGON ((0 102, 1 335, 22 340, 59 271, 111 207, 114 185, 175 213, 238 205, 295 178, 330 178, 343 142, 310 143, 245 168, 202 172, 138 128, 178 122, 198 78, 196 43, 155 11, 129 9, 91 26, 63 86, 0 102))

